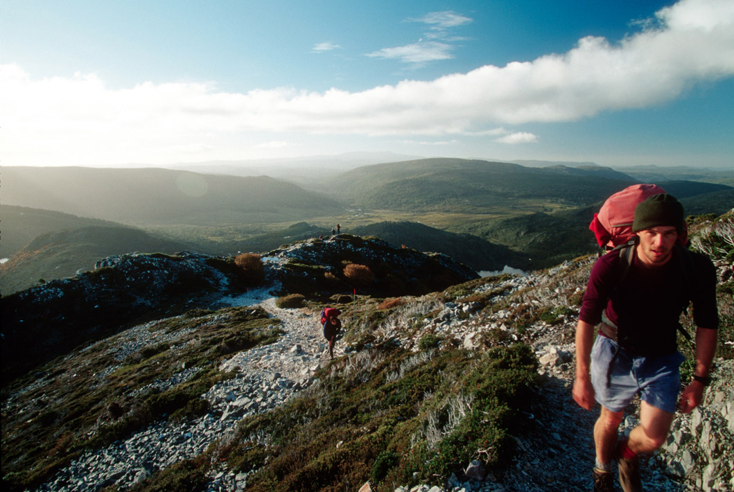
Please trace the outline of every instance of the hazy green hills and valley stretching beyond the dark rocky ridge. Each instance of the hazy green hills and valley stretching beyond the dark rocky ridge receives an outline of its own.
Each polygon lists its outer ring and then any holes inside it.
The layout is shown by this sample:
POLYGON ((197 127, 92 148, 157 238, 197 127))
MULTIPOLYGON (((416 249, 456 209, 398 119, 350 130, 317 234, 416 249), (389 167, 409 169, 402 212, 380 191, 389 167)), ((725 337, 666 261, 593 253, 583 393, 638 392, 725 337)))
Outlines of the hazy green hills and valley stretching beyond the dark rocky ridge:
MULTIPOLYGON (((697 176, 708 182, 656 182, 688 214, 722 214, 734 204, 734 188, 711 180, 730 175, 701 170, 697 176)), ((133 251, 262 253, 329 234, 338 222, 350 234, 445 253, 477 270, 537 269, 595 250, 588 231, 594 212, 635 182, 593 163, 526 167, 466 159, 356 167, 324 178, 321 192, 268 176, 5 167, 0 256, 10 260, 0 267, 0 290, 76 275, 101 258, 133 251)))

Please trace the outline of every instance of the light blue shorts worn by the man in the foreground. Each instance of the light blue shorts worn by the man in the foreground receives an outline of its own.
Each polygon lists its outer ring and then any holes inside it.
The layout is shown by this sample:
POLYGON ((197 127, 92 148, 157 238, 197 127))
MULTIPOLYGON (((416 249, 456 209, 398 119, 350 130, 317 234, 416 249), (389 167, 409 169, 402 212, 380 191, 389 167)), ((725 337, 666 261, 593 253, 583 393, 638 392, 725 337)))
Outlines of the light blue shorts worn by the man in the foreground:
POLYGON ((669 413, 675 413, 680 391, 680 364, 686 360, 680 352, 668 355, 630 355, 619 350, 607 386, 609 362, 617 350, 617 342, 597 336, 592 347, 592 386, 595 397, 604 407, 621 412, 635 394, 640 399, 669 413))

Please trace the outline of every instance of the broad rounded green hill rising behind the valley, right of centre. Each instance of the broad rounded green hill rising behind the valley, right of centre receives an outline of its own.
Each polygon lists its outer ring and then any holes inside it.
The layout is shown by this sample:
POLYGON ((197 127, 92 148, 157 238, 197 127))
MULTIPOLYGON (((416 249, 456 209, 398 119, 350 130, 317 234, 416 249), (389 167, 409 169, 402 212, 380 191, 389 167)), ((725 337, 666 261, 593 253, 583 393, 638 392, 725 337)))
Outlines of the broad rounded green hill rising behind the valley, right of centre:
POLYGON ((596 170, 555 170, 465 159, 421 159, 360 167, 329 181, 343 200, 369 209, 484 211, 583 206, 633 184, 596 170))

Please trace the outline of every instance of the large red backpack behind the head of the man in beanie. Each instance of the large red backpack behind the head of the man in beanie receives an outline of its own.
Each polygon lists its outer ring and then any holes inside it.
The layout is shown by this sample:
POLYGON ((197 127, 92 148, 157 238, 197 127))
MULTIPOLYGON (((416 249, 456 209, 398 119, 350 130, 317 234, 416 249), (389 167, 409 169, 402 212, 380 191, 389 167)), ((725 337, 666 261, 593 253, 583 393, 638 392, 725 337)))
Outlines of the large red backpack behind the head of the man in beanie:
MULTIPOLYGON (((589 224, 589 229, 596 235, 600 247, 612 250, 631 242, 635 237, 632 231, 635 207, 648 197, 664 192, 656 184, 633 184, 607 198, 589 224)), ((678 236, 678 242, 680 245, 688 242, 688 231, 683 231, 678 236)))

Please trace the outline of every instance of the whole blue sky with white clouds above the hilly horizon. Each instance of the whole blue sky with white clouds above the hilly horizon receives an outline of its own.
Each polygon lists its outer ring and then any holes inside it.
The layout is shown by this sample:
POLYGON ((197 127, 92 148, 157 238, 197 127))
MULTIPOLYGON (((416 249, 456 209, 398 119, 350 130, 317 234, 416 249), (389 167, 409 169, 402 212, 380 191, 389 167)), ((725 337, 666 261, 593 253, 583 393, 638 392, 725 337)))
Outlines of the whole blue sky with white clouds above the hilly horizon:
POLYGON ((0 163, 734 168, 734 2, 0 3, 0 163))

